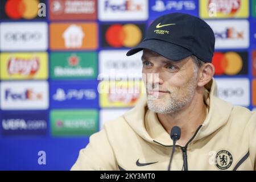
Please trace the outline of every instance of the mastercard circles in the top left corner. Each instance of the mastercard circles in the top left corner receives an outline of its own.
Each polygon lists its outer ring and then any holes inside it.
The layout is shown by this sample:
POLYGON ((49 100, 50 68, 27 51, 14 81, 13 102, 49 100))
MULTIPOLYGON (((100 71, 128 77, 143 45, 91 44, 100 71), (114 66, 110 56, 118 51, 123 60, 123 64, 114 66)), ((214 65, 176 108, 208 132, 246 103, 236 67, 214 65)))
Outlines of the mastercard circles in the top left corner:
POLYGON ((38 15, 39 3, 39 0, 8 0, 5 12, 12 19, 32 19, 38 15))

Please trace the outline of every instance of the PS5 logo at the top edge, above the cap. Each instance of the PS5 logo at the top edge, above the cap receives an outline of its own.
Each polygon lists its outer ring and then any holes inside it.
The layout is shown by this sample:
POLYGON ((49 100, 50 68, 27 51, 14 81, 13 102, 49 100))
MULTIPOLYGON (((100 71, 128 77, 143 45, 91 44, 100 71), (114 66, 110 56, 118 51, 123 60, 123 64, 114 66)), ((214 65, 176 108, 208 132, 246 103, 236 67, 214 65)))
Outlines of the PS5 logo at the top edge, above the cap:
POLYGON ((194 1, 164 1, 156 0, 155 5, 152 6, 153 11, 168 11, 168 10, 195 10, 196 5, 194 1))

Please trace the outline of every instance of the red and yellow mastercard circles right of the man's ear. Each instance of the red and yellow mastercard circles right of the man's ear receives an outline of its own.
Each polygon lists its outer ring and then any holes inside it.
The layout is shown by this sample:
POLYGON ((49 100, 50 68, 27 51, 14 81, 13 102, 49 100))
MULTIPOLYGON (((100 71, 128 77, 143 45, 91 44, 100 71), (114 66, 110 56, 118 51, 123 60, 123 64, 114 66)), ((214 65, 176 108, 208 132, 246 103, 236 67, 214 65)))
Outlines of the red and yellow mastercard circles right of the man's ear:
POLYGON ((246 74, 244 71, 245 61, 243 61, 241 54, 237 52, 216 52, 213 55, 212 64, 215 67, 216 75, 246 74))

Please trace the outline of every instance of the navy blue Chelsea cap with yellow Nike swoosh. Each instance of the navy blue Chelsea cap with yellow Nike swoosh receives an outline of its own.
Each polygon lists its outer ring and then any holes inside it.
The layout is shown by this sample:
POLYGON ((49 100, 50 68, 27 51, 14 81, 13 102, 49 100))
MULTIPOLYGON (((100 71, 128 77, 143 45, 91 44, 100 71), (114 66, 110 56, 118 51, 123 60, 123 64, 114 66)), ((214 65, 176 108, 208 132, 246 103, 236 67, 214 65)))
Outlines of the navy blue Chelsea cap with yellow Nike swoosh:
POLYGON ((174 61, 195 55, 211 63, 214 44, 214 32, 204 20, 189 14, 171 13, 155 19, 142 42, 126 55, 150 49, 174 61))

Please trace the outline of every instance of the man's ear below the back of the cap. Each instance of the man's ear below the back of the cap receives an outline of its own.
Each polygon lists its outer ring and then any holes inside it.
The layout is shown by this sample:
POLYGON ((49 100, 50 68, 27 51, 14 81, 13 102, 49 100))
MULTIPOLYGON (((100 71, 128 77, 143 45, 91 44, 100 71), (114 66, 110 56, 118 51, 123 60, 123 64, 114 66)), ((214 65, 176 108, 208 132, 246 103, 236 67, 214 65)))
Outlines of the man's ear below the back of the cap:
POLYGON ((212 63, 205 63, 202 65, 199 71, 199 79, 197 82, 198 86, 204 86, 212 80, 215 73, 215 67, 212 63))

